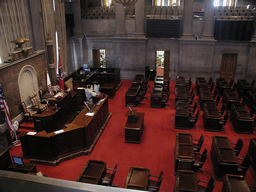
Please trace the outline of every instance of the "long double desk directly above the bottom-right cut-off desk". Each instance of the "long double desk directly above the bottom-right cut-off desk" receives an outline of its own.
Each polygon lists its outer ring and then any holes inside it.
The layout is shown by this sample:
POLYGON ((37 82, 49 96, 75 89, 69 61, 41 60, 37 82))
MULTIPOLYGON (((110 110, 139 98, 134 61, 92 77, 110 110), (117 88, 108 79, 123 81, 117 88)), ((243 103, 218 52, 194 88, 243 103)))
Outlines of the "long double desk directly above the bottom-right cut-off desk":
POLYGON ((239 164, 227 137, 213 136, 210 154, 217 180, 222 181, 225 174, 236 174, 239 164))

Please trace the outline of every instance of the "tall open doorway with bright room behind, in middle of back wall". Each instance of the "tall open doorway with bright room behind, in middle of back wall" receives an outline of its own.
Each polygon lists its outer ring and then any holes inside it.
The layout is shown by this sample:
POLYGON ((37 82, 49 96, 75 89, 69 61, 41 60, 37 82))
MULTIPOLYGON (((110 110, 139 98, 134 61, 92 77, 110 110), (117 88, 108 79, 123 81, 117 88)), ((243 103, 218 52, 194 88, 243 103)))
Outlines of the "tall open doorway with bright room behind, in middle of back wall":
POLYGON ((156 75, 169 77, 169 51, 156 51, 156 75))

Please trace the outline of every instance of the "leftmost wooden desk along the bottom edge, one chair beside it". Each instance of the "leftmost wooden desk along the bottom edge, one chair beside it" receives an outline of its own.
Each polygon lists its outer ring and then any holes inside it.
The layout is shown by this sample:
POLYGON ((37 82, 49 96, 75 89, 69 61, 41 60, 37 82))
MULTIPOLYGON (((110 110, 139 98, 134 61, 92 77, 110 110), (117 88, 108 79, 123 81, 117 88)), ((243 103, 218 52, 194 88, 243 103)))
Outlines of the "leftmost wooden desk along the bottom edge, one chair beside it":
POLYGON ((106 172, 106 164, 103 161, 88 160, 76 181, 98 185, 103 173, 106 172))

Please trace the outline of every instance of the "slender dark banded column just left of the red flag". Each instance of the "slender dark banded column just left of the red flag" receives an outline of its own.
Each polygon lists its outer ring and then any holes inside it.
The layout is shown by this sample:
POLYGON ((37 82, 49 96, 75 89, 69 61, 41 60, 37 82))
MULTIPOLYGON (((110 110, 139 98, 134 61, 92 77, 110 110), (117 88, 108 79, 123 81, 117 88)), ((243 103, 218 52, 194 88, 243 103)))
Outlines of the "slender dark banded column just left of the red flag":
POLYGON ((52 89, 58 88, 57 80, 56 80, 56 63, 54 62, 54 54, 53 54, 53 41, 48 34, 48 37, 45 41, 47 47, 47 55, 48 55, 48 68, 49 68, 49 76, 52 84, 52 89))

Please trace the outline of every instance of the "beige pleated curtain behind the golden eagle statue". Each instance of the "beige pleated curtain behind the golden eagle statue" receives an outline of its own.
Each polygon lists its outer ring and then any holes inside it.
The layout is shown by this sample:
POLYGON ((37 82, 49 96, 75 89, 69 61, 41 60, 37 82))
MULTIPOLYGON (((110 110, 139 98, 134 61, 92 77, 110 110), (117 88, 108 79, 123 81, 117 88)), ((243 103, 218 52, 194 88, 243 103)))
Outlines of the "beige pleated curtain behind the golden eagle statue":
MULTIPOLYGON (((23 0, 0 1, 0 55, 2 62, 8 60, 8 52, 16 47, 10 41, 28 37, 28 27, 24 11, 23 0)), ((23 44, 29 47, 29 42, 23 44)))

